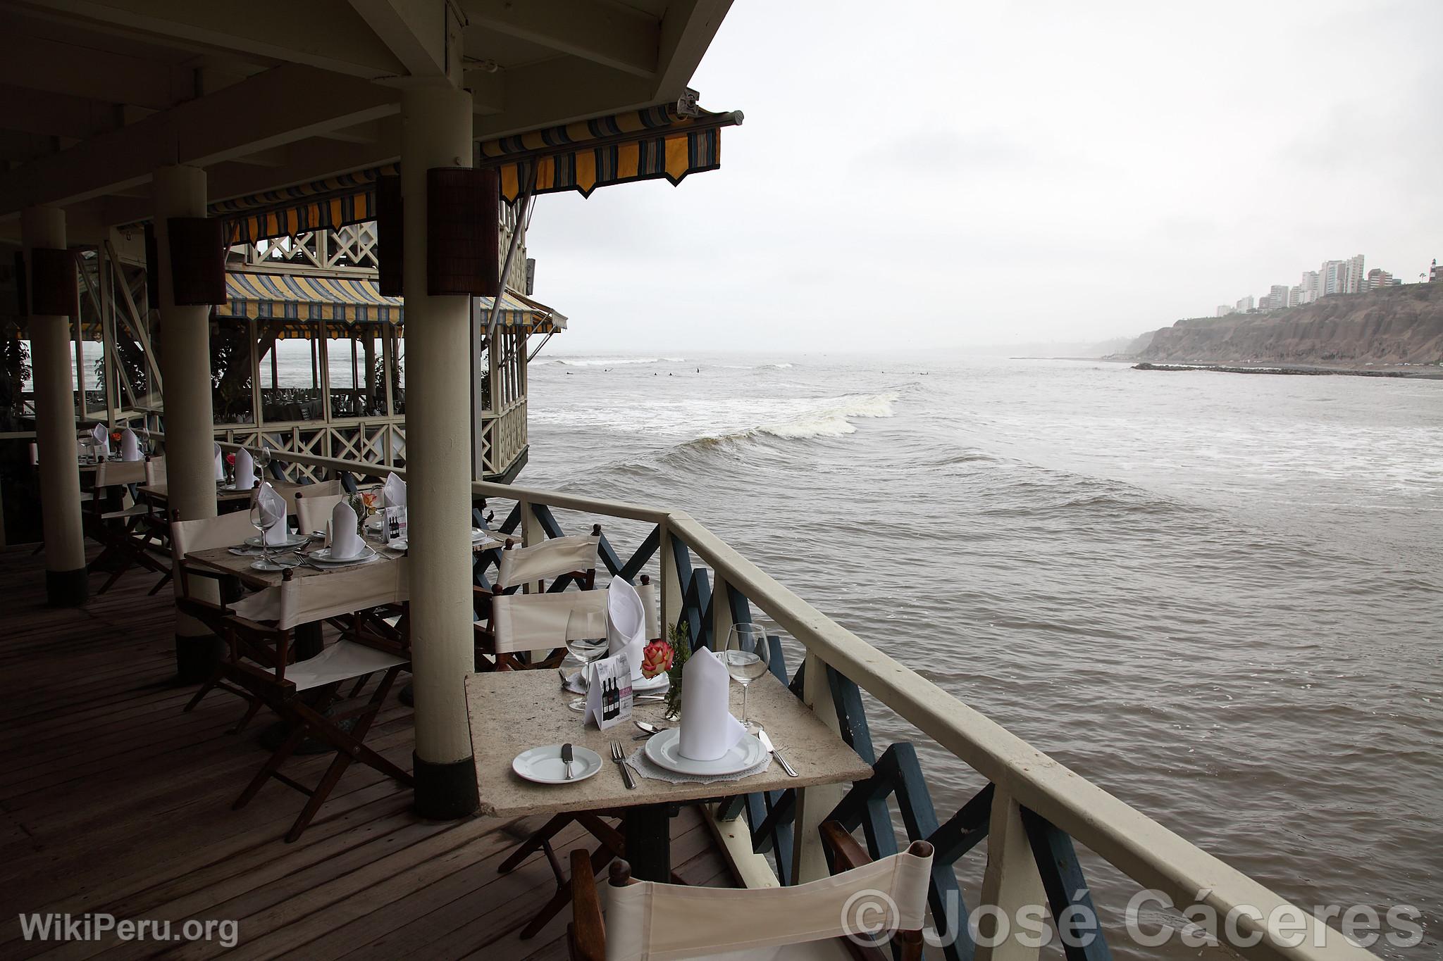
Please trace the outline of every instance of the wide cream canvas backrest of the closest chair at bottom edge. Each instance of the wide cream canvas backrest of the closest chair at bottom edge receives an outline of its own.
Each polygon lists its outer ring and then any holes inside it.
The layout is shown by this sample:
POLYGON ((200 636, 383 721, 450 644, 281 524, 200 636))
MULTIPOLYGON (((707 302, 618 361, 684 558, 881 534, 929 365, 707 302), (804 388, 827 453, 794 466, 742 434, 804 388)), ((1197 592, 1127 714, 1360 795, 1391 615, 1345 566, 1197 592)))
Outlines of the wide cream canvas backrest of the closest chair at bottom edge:
POLYGON ((887 916, 886 922, 898 931, 915 931, 926 913, 931 870, 931 853, 908 850, 791 888, 613 885, 608 888, 606 961, 750 957, 732 954, 743 951, 755 951, 759 958, 798 957, 776 949, 844 938, 859 934, 848 931, 848 924, 880 919, 860 912, 854 898, 870 898, 870 903, 887 913, 895 906, 896 916, 887 916))

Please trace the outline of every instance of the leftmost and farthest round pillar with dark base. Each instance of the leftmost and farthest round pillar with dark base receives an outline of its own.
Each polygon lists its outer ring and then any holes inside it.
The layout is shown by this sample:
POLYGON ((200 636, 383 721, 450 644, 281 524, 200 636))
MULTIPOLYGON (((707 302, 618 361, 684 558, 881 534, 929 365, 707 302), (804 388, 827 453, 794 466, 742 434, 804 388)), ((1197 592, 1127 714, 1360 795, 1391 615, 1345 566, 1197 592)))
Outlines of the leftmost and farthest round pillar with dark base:
MULTIPOLYGON (((65 212, 29 207, 20 215, 20 233, 26 264, 33 248, 65 249, 65 212)), ((75 284, 75 278, 71 277, 69 282, 75 284)), ((81 530, 75 395, 71 392, 71 320, 55 314, 30 314, 29 320, 35 434, 40 452, 40 519, 45 524, 45 595, 58 607, 79 607, 89 588, 85 535, 81 530)))

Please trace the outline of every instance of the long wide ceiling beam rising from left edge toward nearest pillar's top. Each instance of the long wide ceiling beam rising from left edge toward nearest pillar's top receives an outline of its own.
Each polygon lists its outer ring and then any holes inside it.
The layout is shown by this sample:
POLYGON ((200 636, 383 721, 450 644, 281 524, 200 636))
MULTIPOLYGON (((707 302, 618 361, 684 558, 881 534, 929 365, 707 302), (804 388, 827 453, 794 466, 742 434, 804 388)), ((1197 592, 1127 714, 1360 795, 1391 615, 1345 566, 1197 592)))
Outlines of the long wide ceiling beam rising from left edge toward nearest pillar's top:
POLYGON ((163 164, 205 167, 398 111, 394 89, 287 63, 0 176, 0 213, 102 196, 163 164))

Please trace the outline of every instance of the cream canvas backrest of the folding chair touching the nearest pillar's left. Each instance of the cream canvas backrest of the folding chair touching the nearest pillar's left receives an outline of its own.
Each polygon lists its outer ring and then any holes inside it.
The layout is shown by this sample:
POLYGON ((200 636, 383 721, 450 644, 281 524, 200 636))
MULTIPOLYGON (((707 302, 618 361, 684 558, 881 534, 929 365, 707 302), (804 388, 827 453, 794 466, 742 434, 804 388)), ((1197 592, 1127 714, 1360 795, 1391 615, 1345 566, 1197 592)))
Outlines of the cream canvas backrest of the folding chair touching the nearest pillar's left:
POLYGON ((231 607, 244 618, 274 621, 277 630, 289 631, 300 624, 384 604, 404 604, 410 599, 405 565, 404 558, 372 560, 322 575, 290 578, 280 586, 258 591, 231 607))

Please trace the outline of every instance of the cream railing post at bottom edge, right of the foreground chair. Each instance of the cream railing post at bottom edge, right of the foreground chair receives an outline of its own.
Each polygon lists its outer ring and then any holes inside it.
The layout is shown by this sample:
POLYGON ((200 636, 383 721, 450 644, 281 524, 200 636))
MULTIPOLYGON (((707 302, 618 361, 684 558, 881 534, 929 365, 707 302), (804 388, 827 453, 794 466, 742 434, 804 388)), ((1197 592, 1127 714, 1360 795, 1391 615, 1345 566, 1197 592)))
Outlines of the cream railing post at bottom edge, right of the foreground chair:
POLYGON ((999 785, 993 794, 987 828, 987 869, 983 873, 981 900, 986 911, 978 915, 975 961, 1035 961, 1039 948, 1017 939, 1017 909, 1042 905, 1045 911, 1046 903, 1038 862, 1032 857, 1027 831, 1022 826, 1022 808, 999 785), (991 913, 994 909, 996 913, 991 913), (1000 925, 1006 925, 1006 931, 999 931, 1000 925), (1001 939, 991 944, 999 937, 1001 939))

